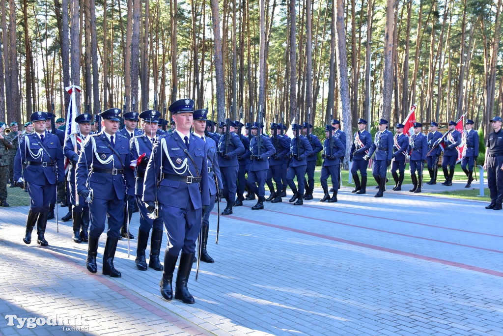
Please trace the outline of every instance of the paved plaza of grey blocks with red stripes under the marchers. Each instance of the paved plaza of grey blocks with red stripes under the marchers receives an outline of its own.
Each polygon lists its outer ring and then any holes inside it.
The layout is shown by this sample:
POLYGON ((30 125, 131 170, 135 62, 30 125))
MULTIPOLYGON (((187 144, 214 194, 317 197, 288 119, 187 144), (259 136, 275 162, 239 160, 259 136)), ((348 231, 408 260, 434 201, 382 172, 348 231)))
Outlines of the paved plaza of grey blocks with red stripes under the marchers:
MULTIPOLYGON (((215 263, 201 263, 198 281, 194 264, 193 305, 161 298, 161 272, 136 269, 136 239, 129 258, 119 241, 114 279, 101 274, 102 235, 94 275, 70 222, 56 232, 49 221, 49 246, 37 245, 36 228, 26 245, 28 207, 0 208, 0 336, 503 335, 503 211, 409 188, 388 184, 374 198, 373 187, 343 187, 338 203, 318 202, 318 188, 303 206, 288 203, 289 192, 260 211, 247 201, 221 217, 218 245, 215 205, 215 263), (66 325, 49 325, 58 321, 66 325)), ((131 227, 136 236, 137 213, 131 227)))

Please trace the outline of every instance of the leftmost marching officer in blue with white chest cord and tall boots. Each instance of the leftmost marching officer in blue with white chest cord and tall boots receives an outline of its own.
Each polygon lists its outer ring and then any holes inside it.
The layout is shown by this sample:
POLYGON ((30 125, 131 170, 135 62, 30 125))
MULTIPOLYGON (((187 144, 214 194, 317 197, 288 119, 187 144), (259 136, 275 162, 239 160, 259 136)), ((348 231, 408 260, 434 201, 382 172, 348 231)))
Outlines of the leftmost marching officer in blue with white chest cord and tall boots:
POLYGON ((30 120, 35 132, 19 140, 19 151, 14 161, 14 180, 19 186, 27 182, 26 188, 30 195, 30 210, 23 241, 31 243, 31 233, 37 223, 37 243, 47 246, 48 242, 44 237, 47 213, 49 203, 56 198, 56 183, 64 179, 64 156, 58 137, 46 132, 47 114, 40 111, 32 113, 30 120), (26 167, 23 169, 24 163, 26 167))

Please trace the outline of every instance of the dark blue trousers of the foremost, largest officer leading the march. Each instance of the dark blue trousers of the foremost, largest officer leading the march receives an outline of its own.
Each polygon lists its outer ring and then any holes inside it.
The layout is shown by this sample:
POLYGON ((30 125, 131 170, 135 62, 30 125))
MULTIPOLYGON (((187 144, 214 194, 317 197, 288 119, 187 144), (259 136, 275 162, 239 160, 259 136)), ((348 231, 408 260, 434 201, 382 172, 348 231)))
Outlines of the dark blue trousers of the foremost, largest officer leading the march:
POLYGON ((201 232, 202 208, 194 209, 189 200, 187 208, 180 209, 160 204, 159 212, 167 231, 167 250, 172 256, 178 256, 180 250, 191 254, 196 251, 196 240, 201 232))

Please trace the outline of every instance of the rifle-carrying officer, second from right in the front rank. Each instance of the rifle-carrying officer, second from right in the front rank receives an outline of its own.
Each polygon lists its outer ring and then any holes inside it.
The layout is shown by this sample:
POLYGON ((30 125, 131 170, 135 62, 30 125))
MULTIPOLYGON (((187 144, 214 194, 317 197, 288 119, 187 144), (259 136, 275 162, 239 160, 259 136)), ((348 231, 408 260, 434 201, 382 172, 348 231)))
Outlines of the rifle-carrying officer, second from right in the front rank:
POLYGON ((292 124, 292 131, 294 135, 290 143, 290 155, 292 156, 292 161, 290 162, 290 166, 286 174, 288 186, 293 192, 293 196, 289 202, 292 203, 297 200, 297 202, 293 205, 302 205, 304 204, 302 197, 304 196, 304 176, 306 175, 307 157, 313 150, 306 137, 297 135, 297 132, 301 131, 300 125, 292 124), (295 182, 293 182, 295 176, 297 176, 297 185, 299 187, 298 192, 295 182))

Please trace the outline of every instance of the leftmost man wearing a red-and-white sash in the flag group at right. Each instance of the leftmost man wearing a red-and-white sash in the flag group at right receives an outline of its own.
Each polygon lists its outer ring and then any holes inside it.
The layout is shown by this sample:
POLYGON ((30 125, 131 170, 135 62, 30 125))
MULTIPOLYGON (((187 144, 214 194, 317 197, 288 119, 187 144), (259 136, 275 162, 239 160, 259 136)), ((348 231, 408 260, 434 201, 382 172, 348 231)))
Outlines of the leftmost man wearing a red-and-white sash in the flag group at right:
POLYGON ((370 145, 372 144, 372 136, 365 130, 367 120, 358 119, 358 132, 353 137, 353 145, 351 146, 350 161, 354 161, 351 165, 351 174, 355 181, 355 189, 352 193, 365 194, 367 188, 367 160, 364 158, 369 153, 370 145), (362 184, 358 178, 358 171, 362 176, 362 184))

